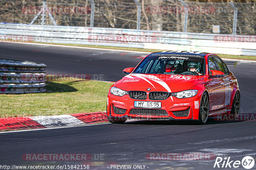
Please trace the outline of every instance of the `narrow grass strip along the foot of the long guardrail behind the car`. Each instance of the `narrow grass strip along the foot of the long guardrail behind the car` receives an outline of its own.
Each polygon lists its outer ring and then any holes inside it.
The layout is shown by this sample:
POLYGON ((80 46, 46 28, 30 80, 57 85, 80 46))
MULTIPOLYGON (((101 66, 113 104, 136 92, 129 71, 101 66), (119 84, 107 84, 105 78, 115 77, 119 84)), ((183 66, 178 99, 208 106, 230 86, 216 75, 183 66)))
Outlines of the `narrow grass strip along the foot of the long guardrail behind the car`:
MULTIPOLYGON (((54 44, 54 43, 47 43, 47 44, 54 44)), ((95 45, 81 45, 81 44, 55 44, 55 45, 81 46, 81 47, 105 48, 105 49, 128 50, 128 51, 141 51, 141 52, 148 52, 148 54, 157 52, 157 51, 164 51, 164 50, 159 50, 159 49, 143 49, 143 48, 129 48, 129 47, 115 47, 115 46, 95 46, 95 45)), ((170 49, 166 49, 166 50, 170 50, 170 49)), ((256 56, 249 56, 249 55, 229 55, 229 54, 217 54, 217 55, 220 58, 226 58, 226 59, 256 60, 256 56)))

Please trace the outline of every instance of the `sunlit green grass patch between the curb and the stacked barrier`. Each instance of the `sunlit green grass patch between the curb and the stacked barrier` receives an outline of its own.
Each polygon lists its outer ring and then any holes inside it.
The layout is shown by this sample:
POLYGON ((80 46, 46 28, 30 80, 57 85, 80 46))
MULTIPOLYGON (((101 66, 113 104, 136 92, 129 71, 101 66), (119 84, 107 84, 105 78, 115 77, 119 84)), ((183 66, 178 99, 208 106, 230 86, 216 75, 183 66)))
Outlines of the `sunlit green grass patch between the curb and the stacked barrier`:
POLYGON ((0 117, 105 111, 108 89, 101 81, 47 81, 46 93, 1 95, 0 117))

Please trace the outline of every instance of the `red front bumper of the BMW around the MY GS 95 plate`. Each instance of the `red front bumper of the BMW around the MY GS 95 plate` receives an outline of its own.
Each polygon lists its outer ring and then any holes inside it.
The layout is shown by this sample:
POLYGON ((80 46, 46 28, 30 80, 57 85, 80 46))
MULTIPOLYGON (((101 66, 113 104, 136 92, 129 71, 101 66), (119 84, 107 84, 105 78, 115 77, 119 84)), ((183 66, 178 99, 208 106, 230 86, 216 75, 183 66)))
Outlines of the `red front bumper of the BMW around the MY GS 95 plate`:
POLYGON ((129 95, 115 96, 108 93, 107 116, 115 119, 138 120, 198 120, 201 91, 196 96, 179 99, 172 96, 165 100, 132 99, 129 95), (161 102, 161 108, 134 107, 134 101, 161 102))

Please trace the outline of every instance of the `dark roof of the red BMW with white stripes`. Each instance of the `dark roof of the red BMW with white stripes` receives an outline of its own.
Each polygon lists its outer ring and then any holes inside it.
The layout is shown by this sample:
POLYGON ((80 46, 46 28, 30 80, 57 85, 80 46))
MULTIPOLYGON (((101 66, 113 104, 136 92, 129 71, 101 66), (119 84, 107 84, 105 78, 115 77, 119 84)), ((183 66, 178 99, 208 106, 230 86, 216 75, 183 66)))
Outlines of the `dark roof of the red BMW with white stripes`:
POLYGON ((199 52, 199 51, 174 51, 174 50, 169 50, 169 51, 161 51, 161 52, 155 52, 155 53, 151 53, 148 56, 164 56, 164 55, 175 55, 175 56, 190 56, 190 57, 202 57, 204 58, 204 56, 206 54, 209 53, 205 53, 205 52, 199 52))

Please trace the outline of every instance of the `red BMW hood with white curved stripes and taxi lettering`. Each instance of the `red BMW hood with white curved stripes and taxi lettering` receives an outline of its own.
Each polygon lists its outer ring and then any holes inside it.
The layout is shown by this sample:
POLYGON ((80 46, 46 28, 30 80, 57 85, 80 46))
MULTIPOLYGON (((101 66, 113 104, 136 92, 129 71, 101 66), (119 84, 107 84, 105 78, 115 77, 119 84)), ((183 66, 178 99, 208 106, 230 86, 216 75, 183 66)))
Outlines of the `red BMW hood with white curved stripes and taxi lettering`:
POLYGON ((196 84, 204 82, 205 76, 177 74, 128 74, 115 83, 115 87, 130 90, 150 88, 153 91, 178 92, 191 89, 196 84))

